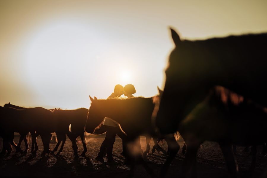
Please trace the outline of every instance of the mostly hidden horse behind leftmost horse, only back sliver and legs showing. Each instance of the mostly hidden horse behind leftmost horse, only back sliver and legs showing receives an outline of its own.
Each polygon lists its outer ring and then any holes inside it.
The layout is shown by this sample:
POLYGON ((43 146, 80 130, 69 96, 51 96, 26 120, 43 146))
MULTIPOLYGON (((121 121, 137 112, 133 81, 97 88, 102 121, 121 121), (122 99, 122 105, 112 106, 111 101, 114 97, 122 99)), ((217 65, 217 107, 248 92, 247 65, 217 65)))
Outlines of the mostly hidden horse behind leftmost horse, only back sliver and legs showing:
MULTIPOLYGON (((15 109, 26 109, 25 107, 20 107, 20 106, 10 104, 10 102, 8 104, 5 104, 4 107, 11 107, 11 108, 15 108, 15 109)), ((29 131, 29 132, 31 133, 31 136, 32 136, 31 152, 34 153, 34 152, 38 151, 38 144, 37 144, 37 136, 38 135, 36 135, 35 131, 29 131), (34 150, 34 147, 35 147, 35 150, 34 150)), ((24 140, 25 147, 26 147, 24 154, 26 154, 28 152, 28 149, 29 149, 29 145, 28 145, 28 141, 27 141, 27 138, 29 137, 28 133, 26 133, 26 132, 25 133, 21 133, 21 132, 19 133, 20 134, 20 140, 18 143, 18 147, 20 147, 22 140, 24 140)), ((18 152, 18 150, 16 152, 18 152)))

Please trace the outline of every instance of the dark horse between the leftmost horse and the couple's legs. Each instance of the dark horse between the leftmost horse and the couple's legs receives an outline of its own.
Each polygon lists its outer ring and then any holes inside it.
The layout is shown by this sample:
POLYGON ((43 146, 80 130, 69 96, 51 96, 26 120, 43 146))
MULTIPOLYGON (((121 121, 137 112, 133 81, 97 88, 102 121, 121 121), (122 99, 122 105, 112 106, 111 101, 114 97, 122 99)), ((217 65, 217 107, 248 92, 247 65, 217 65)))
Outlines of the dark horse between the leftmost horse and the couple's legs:
POLYGON ((56 132, 57 137, 58 135, 61 135, 58 137, 58 143, 55 147, 55 149, 52 152, 55 152, 58 149, 58 146, 60 142, 62 141, 61 148, 58 152, 62 152, 64 143, 66 141, 66 134, 68 135, 69 139, 72 142, 72 148, 74 150, 74 155, 78 155, 78 147, 76 144, 76 139, 78 136, 81 137, 82 145, 83 145, 83 152, 82 156, 85 156, 85 153, 87 152, 86 148, 86 139, 85 139, 85 123, 87 120, 87 114, 88 109, 86 108, 79 108, 79 109, 73 109, 73 110, 60 110, 55 109, 54 110, 55 118, 57 120, 57 128, 59 128, 62 125, 65 125, 65 127, 61 127, 61 131, 56 132), (69 131, 69 125, 71 124, 71 131, 69 131), (62 135, 63 134, 63 135, 62 135))

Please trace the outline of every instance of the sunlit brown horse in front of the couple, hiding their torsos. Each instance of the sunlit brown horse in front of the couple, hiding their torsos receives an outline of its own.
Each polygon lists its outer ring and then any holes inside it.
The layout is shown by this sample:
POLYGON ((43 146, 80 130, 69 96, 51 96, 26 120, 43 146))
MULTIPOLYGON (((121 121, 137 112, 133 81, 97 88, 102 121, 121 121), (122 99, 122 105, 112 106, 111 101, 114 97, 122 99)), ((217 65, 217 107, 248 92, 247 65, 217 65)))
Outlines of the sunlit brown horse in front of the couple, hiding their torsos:
MULTIPOLYGON (((134 141, 142 134, 155 135, 154 127, 151 122, 155 103, 153 98, 129 98, 129 99, 93 99, 88 111, 87 123, 85 131, 93 133, 95 128, 103 121, 104 117, 109 117, 118 122, 122 130, 127 135, 127 142, 134 141)), ((161 175, 164 175, 169 167, 169 164, 179 150, 179 144, 174 137, 174 134, 169 137, 164 137, 168 143, 170 155, 163 166, 161 175)), ((129 149, 129 147, 127 147, 129 149)), ((128 153, 131 153, 127 151, 128 153)), ((144 168, 151 173, 151 170, 141 160, 144 168)), ((131 174, 133 174, 134 165, 131 165, 131 174)), ((151 173, 152 174, 152 173, 151 173)))

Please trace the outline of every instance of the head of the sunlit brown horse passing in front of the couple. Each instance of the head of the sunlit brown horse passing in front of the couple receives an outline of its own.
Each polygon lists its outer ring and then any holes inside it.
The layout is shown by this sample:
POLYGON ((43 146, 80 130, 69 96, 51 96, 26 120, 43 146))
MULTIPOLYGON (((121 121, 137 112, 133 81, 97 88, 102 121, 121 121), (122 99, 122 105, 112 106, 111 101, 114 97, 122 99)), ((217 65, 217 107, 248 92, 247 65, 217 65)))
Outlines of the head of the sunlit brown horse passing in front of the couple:
POLYGON ((101 108, 97 104, 97 98, 94 97, 94 99, 90 97, 91 100, 91 106, 88 110, 87 115, 87 121, 85 125, 85 131, 92 134, 94 129, 101 123, 102 120, 104 120, 104 115, 101 114, 101 108))

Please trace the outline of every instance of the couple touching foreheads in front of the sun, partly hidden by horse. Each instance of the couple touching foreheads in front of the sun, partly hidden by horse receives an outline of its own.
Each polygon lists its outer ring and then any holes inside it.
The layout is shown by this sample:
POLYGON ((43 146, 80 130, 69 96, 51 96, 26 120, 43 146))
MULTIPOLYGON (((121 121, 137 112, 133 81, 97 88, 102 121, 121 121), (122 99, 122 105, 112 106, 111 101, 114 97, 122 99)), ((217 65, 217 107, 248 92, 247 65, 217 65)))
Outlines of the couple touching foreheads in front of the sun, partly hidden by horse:
MULTIPOLYGON (((128 84, 125 85, 124 88, 122 85, 116 85, 114 88, 114 92, 107 99, 120 97, 122 94, 124 94, 125 97, 132 98, 134 97, 132 95, 134 93, 136 93, 134 85, 128 84)), ((113 151, 113 144, 116 139, 116 134, 123 140, 122 155, 126 156, 126 150, 127 150, 125 145, 126 134, 120 128, 119 123, 112 120, 111 118, 105 117, 103 125, 107 133, 103 143, 101 144, 96 160, 103 163, 104 162, 103 156, 105 155, 107 150, 107 158, 108 158, 107 163, 112 164, 114 162, 112 151, 113 151)))

